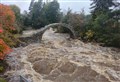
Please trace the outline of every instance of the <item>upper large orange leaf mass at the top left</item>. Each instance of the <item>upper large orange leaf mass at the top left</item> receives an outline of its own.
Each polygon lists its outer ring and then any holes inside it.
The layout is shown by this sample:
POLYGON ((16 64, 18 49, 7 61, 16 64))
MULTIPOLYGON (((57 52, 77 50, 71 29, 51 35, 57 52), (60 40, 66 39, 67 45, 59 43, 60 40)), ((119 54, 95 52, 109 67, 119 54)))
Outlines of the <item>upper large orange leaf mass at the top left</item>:
POLYGON ((0 28, 14 29, 15 15, 7 5, 0 4, 0 28))

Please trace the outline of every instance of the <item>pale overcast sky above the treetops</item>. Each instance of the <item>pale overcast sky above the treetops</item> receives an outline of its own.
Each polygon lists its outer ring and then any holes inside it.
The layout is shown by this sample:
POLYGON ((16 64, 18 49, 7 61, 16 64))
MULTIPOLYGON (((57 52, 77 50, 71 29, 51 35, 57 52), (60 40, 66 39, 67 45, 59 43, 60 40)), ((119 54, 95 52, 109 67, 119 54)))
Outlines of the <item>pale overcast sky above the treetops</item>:
MULTIPOLYGON (((45 0, 44 0, 45 1, 45 0)), ((48 0, 51 1, 51 0, 48 0)), ((21 12, 28 10, 31 0, 0 0, 0 3, 7 5, 15 4, 20 7, 21 12)), ((80 12, 81 9, 85 10, 86 14, 90 12, 90 0, 58 0, 62 11, 72 9, 73 12, 80 12)))

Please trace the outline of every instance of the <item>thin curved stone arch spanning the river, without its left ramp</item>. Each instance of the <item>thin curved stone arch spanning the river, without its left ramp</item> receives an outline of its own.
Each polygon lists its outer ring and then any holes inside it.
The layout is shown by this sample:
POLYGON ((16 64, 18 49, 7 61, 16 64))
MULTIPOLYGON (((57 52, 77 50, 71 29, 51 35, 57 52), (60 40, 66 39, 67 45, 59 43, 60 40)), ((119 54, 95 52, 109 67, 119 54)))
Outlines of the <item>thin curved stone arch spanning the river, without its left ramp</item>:
POLYGON ((73 39, 75 38, 75 32, 74 32, 72 26, 70 26, 68 24, 65 24, 65 23, 52 23, 52 24, 46 25, 45 27, 43 27, 42 29, 39 30, 40 41, 42 40, 42 36, 45 33, 45 31, 48 30, 49 28, 53 27, 53 26, 62 26, 62 27, 67 28, 69 33, 70 33, 70 38, 73 38, 73 39))

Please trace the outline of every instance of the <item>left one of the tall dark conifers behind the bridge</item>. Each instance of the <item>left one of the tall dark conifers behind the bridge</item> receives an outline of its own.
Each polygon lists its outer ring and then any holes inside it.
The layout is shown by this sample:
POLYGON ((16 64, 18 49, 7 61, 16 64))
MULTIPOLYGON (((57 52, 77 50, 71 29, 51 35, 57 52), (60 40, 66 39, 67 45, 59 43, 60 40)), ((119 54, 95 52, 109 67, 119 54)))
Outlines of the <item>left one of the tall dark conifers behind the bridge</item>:
POLYGON ((41 28, 45 25, 45 21, 43 20, 44 16, 42 16, 43 13, 42 8, 43 8, 42 0, 38 0, 38 2, 31 1, 29 16, 31 26, 33 28, 41 28))

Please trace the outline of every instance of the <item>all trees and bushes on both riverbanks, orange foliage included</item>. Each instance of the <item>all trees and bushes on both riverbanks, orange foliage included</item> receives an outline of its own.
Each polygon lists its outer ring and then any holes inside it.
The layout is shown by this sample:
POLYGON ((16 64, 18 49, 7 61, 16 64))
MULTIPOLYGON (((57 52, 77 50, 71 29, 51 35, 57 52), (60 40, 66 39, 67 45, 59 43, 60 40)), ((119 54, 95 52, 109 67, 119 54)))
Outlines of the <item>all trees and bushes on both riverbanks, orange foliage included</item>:
MULTIPOLYGON (((29 11, 20 13, 16 5, 0 4, 0 73, 7 64, 4 58, 20 43, 19 34, 26 29, 40 29, 51 23, 66 23, 73 27, 77 39, 120 48, 120 3, 117 0, 92 0, 91 14, 67 13, 60 10, 57 0, 43 2, 31 0, 29 11)), ((64 27, 57 32, 67 32, 64 27)), ((0 82, 4 79, 0 78, 0 82)))

